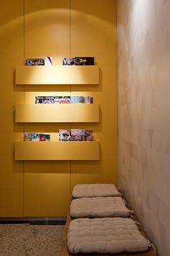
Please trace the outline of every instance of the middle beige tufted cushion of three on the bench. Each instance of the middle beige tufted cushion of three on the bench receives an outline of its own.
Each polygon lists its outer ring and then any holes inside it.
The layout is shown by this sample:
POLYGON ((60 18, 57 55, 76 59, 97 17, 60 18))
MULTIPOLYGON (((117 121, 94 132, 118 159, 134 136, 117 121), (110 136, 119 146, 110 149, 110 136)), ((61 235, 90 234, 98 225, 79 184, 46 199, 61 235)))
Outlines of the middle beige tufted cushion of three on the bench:
POLYGON ((72 218, 128 217, 130 210, 122 197, 82 197, 72 200, 70 215, 72 218))

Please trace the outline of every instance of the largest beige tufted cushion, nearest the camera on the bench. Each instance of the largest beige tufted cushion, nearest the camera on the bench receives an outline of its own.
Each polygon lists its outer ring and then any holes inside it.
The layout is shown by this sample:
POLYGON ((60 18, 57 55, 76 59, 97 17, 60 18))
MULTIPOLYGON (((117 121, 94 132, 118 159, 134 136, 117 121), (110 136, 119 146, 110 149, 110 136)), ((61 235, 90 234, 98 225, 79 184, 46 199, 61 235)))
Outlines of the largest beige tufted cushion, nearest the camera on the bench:
POLYGON ((77 218, 68 227, 69 252, 142 252, 148 242, 131 218, 77 218))

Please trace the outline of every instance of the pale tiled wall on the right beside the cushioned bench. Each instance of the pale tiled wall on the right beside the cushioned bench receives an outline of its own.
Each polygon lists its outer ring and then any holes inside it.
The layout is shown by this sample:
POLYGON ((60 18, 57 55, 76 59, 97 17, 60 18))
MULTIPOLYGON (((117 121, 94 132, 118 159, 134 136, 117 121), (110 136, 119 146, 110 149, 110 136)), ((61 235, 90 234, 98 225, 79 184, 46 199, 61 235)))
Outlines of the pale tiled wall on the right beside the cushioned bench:
POLYGON ((170 256, 170 1, 117 0, 119 185, 170 256))

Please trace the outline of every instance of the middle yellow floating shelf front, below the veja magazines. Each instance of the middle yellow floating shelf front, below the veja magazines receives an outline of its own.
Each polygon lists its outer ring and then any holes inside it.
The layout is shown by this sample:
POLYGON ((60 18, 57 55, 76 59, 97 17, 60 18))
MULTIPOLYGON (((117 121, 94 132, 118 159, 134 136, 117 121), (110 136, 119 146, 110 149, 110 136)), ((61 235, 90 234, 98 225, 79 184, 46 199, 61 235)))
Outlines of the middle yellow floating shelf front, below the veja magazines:
POLYGON ((19 104, 16 122, 99 122, 98 104, 19 104))

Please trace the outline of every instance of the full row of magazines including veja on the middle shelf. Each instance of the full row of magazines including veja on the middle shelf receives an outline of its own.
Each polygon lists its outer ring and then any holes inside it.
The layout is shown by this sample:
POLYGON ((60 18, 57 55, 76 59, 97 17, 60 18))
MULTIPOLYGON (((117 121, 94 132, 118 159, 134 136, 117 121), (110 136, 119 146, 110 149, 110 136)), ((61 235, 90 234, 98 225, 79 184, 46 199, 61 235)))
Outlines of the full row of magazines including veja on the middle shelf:
POLYGON ((89 96, 35 96, 36 104, 69 104, 69 103, 93 103, 93 97, 89 96))

